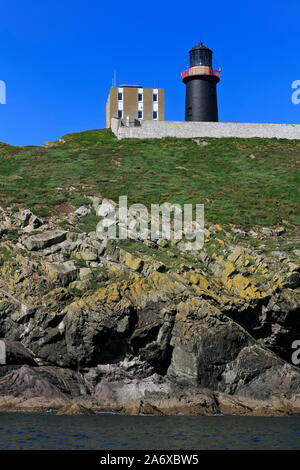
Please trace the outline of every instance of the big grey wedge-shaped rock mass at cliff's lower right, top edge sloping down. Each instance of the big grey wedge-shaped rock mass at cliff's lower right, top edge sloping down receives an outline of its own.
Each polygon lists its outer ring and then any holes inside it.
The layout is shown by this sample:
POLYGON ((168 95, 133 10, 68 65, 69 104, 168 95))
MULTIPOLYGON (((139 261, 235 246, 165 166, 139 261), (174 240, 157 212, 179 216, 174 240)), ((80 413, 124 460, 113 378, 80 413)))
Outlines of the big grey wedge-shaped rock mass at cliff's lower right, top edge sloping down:
POLYGON ((299 370, 206 301, 179 305, 172 338, 171 379, 257 399, 299 391, 299 370))

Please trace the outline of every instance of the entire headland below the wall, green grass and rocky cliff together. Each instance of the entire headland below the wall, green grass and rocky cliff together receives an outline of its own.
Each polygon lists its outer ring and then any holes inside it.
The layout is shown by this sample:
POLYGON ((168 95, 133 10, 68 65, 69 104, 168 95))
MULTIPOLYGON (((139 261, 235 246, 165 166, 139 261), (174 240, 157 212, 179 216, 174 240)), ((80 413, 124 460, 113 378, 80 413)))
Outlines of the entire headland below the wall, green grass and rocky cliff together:
POLYGON ((299 412, 299 153, 106 130, 1 144, 0 409, 299 412), (203 248, 100 240, 97 209, 119 195, 204 203, 203 248))

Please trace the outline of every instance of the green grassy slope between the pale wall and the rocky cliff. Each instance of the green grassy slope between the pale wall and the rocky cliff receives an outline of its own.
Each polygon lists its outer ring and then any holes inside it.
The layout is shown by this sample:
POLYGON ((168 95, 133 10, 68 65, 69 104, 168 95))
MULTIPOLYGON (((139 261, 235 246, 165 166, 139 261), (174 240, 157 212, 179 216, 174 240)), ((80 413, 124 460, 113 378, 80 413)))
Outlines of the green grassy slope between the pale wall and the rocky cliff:
POLYGON ((36 212, 100 193, 147 206, 204 203, 205 218, 220 224, 299 222, 300 141, 206 138, 209 145, 199 146, 192 139, 118 141, 108 130, 63 139, 49 148, 0 144, 0 204, 36 212))

